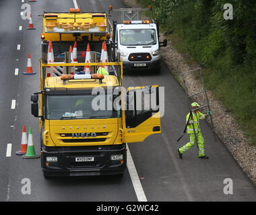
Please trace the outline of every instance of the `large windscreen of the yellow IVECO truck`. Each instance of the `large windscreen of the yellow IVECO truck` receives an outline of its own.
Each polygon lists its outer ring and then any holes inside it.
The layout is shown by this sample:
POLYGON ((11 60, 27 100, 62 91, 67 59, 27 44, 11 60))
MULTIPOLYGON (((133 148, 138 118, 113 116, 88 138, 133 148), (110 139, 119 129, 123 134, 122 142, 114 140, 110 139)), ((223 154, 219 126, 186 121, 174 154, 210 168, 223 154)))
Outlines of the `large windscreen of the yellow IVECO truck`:
POLYGON ((109 104, 111 101, 107 95, 102 95, 100 101, 96 97, 97 95, 47 95, 46 119, 77 120, 120 117, 121 111, 115 110, 113 105, 109 104))

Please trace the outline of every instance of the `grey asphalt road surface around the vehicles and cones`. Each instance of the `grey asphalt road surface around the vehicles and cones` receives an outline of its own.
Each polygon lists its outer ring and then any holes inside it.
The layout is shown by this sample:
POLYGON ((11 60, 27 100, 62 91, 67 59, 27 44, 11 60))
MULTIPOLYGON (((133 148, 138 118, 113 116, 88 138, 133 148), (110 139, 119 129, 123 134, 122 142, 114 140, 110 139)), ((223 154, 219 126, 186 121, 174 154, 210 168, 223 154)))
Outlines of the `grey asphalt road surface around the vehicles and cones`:
MULTIPOLYGON (((189 112, 185 93, 164 62, 160 75, 147 72, 128 73, 125 87, 160 85, 165 87, 162 133, 150 136, 145 142, 129 144, 137 175, 125 171, 123 179, 115 177, 70 177, 44 179, 40 159, 22 159, 20 150, 23 124, 32 127, 36 153, 39 153, 38 119, 30 114, 30 95, 39 90, 38 59, 42 11, 68 11, 74 3, 82 11, 108 11, 125 7, 115 0, 44 0, 30 3, 36 30, 26 30, 28 20, 21 17, 22 0, 0 1, 0 201, 255 201, 255 186, 243 173, 220 140, 214 141, 211 128, 201 123, 205 152, 209 160, 197 158, 194 146, 179 159, 177 148, 189 141, 183 133, 185 115, 189 112), (18 46, 20 45, 20 46, 18 46), (26 71, 28 53, 36 75, 26 71), (134 177, 139 179, 134 181, 134 177), (232 193, 225 192, 225 179, 232 180, 232 193), (30 181, 31 190, 24 193, 30 181), (139 194, 137 190, 142 191, 139 194)), ((171 59, 170 59, 171 60, 171 59)), ((133 166, 134 164, 134 166, 133 166)), ((229 183, 230 185, 230 183, 229 183)), ((28 191, 28 190, 27 190, 28 191)))

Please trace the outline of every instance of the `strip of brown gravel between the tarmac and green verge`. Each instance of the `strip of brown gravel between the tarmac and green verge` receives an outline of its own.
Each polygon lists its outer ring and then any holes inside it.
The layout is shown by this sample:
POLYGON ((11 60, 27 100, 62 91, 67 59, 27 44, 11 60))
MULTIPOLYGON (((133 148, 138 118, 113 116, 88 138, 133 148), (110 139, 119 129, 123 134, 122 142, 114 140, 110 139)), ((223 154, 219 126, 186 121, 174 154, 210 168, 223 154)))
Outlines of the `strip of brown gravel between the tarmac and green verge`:
MULTIPOLYGON (((123 3, 125 3, 127 7, 139 7, 139 5, 135 3, 135 0, 123 0, 123 3)), ((164 35, 160 33, 160 41, 162 40, 164 40, 164 35)), ((181 85, 183 85, 183 76, 181 73, 199 68, 199 65, 196 63, 187 63, 183 54, 180 54, 173 48, 171 41, 168 41, 168 46, 161 47, 161 56, 164 63, 168 66, 168 69, 177 77, 181 85)), ((195 75, 185 75, 184 79, 189 95, 203 90, 201 79, 196 79, 195 75)), ((207 91, 207 97, 210 101, 212 120, 216 134, 222 140, 223 144, 226 145, 228 150, 230 150, 230 153, 232 153, 234 159, 236 159, 243 171, 245 171, 247 176, 256 185, 256 147, 249 144, 249 139, 243 134, 243 131, 239 128, 228 110, 226 110, 222 101, 215 99, 212 91, 207 91)), ((202 94, 195 95, 193 100, 201 105, 207 103, 205 96, 202 96, 202 94)), ((202 112, 203 111, 206 112, 207 110, 205 109, 202 110, 202 112)), ((207 118, 207 122, 210 123, 209 118, 207 118)))

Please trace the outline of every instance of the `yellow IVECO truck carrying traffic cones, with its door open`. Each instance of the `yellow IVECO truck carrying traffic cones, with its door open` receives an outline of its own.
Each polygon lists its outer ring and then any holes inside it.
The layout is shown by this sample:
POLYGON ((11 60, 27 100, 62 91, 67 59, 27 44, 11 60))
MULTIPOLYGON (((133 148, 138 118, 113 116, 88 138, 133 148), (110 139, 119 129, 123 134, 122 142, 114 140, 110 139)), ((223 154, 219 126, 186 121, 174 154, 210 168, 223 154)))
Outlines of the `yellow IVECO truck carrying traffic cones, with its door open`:
MULTIPOLYGON (((78 15, 85 20, 92 17, 92 13, 79 11, 44 13, 44 30, 48 21, 53 20, 49 17, 57 18, 57 22, 67 17, 66 22, 71 22, 71 19, 77 21, 78 15)), ((106 19, 105 13, 100 15, 106 19)), ((96 47, 102 44, 100 38, 107 39, 108 34, 104 32, 102 35, 96 30, 79 34, 72 30, 67 32, 44 32, 40 91, 31 95, 31 112, 40 122, 44 177, 123 175, 127 143, 143 142, 151 134, 161 132, 159 87, 124 89, 120 55, 115 62, 97 62, 97 56, 92 62, 85 62, 85 57, 81 57, 82 62, 70 62, 70 56, 65 52, 64 57, 57 56, 58 62, 47 62, 44 46, 50 39, 53 40, 53 50, 59 48, 62 52, 66 44, 62 46, 60 39, 65 38, 65 42, 72 43, 79 41, 83 47, 85 36, 85 42, 94 42, 94 52, 97 52, 96 47), (88 67, 90 73, 84 73, 88 67), (98 67, 108 68, 108 75, 97 74, 98 67), (79 68, 84 71, 79 71, 79 68), (49 71, 51 75, 47 75, 49 71)))

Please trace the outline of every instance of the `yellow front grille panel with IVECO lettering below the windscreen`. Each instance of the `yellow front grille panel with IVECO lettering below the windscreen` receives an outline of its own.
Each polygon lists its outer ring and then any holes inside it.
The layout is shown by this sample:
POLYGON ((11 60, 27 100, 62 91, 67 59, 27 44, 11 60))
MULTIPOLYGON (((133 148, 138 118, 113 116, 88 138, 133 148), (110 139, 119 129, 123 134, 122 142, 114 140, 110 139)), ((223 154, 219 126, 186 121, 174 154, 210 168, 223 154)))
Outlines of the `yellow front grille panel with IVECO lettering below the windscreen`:
POLYGON ((44 123, 45 146, 95 146, 123 143, 118 128, 121 118, 45 120, 44 123), (91 136, 92 133, 96 136, 91 136), (86 136, 86 134, 89 135, 86 136))

